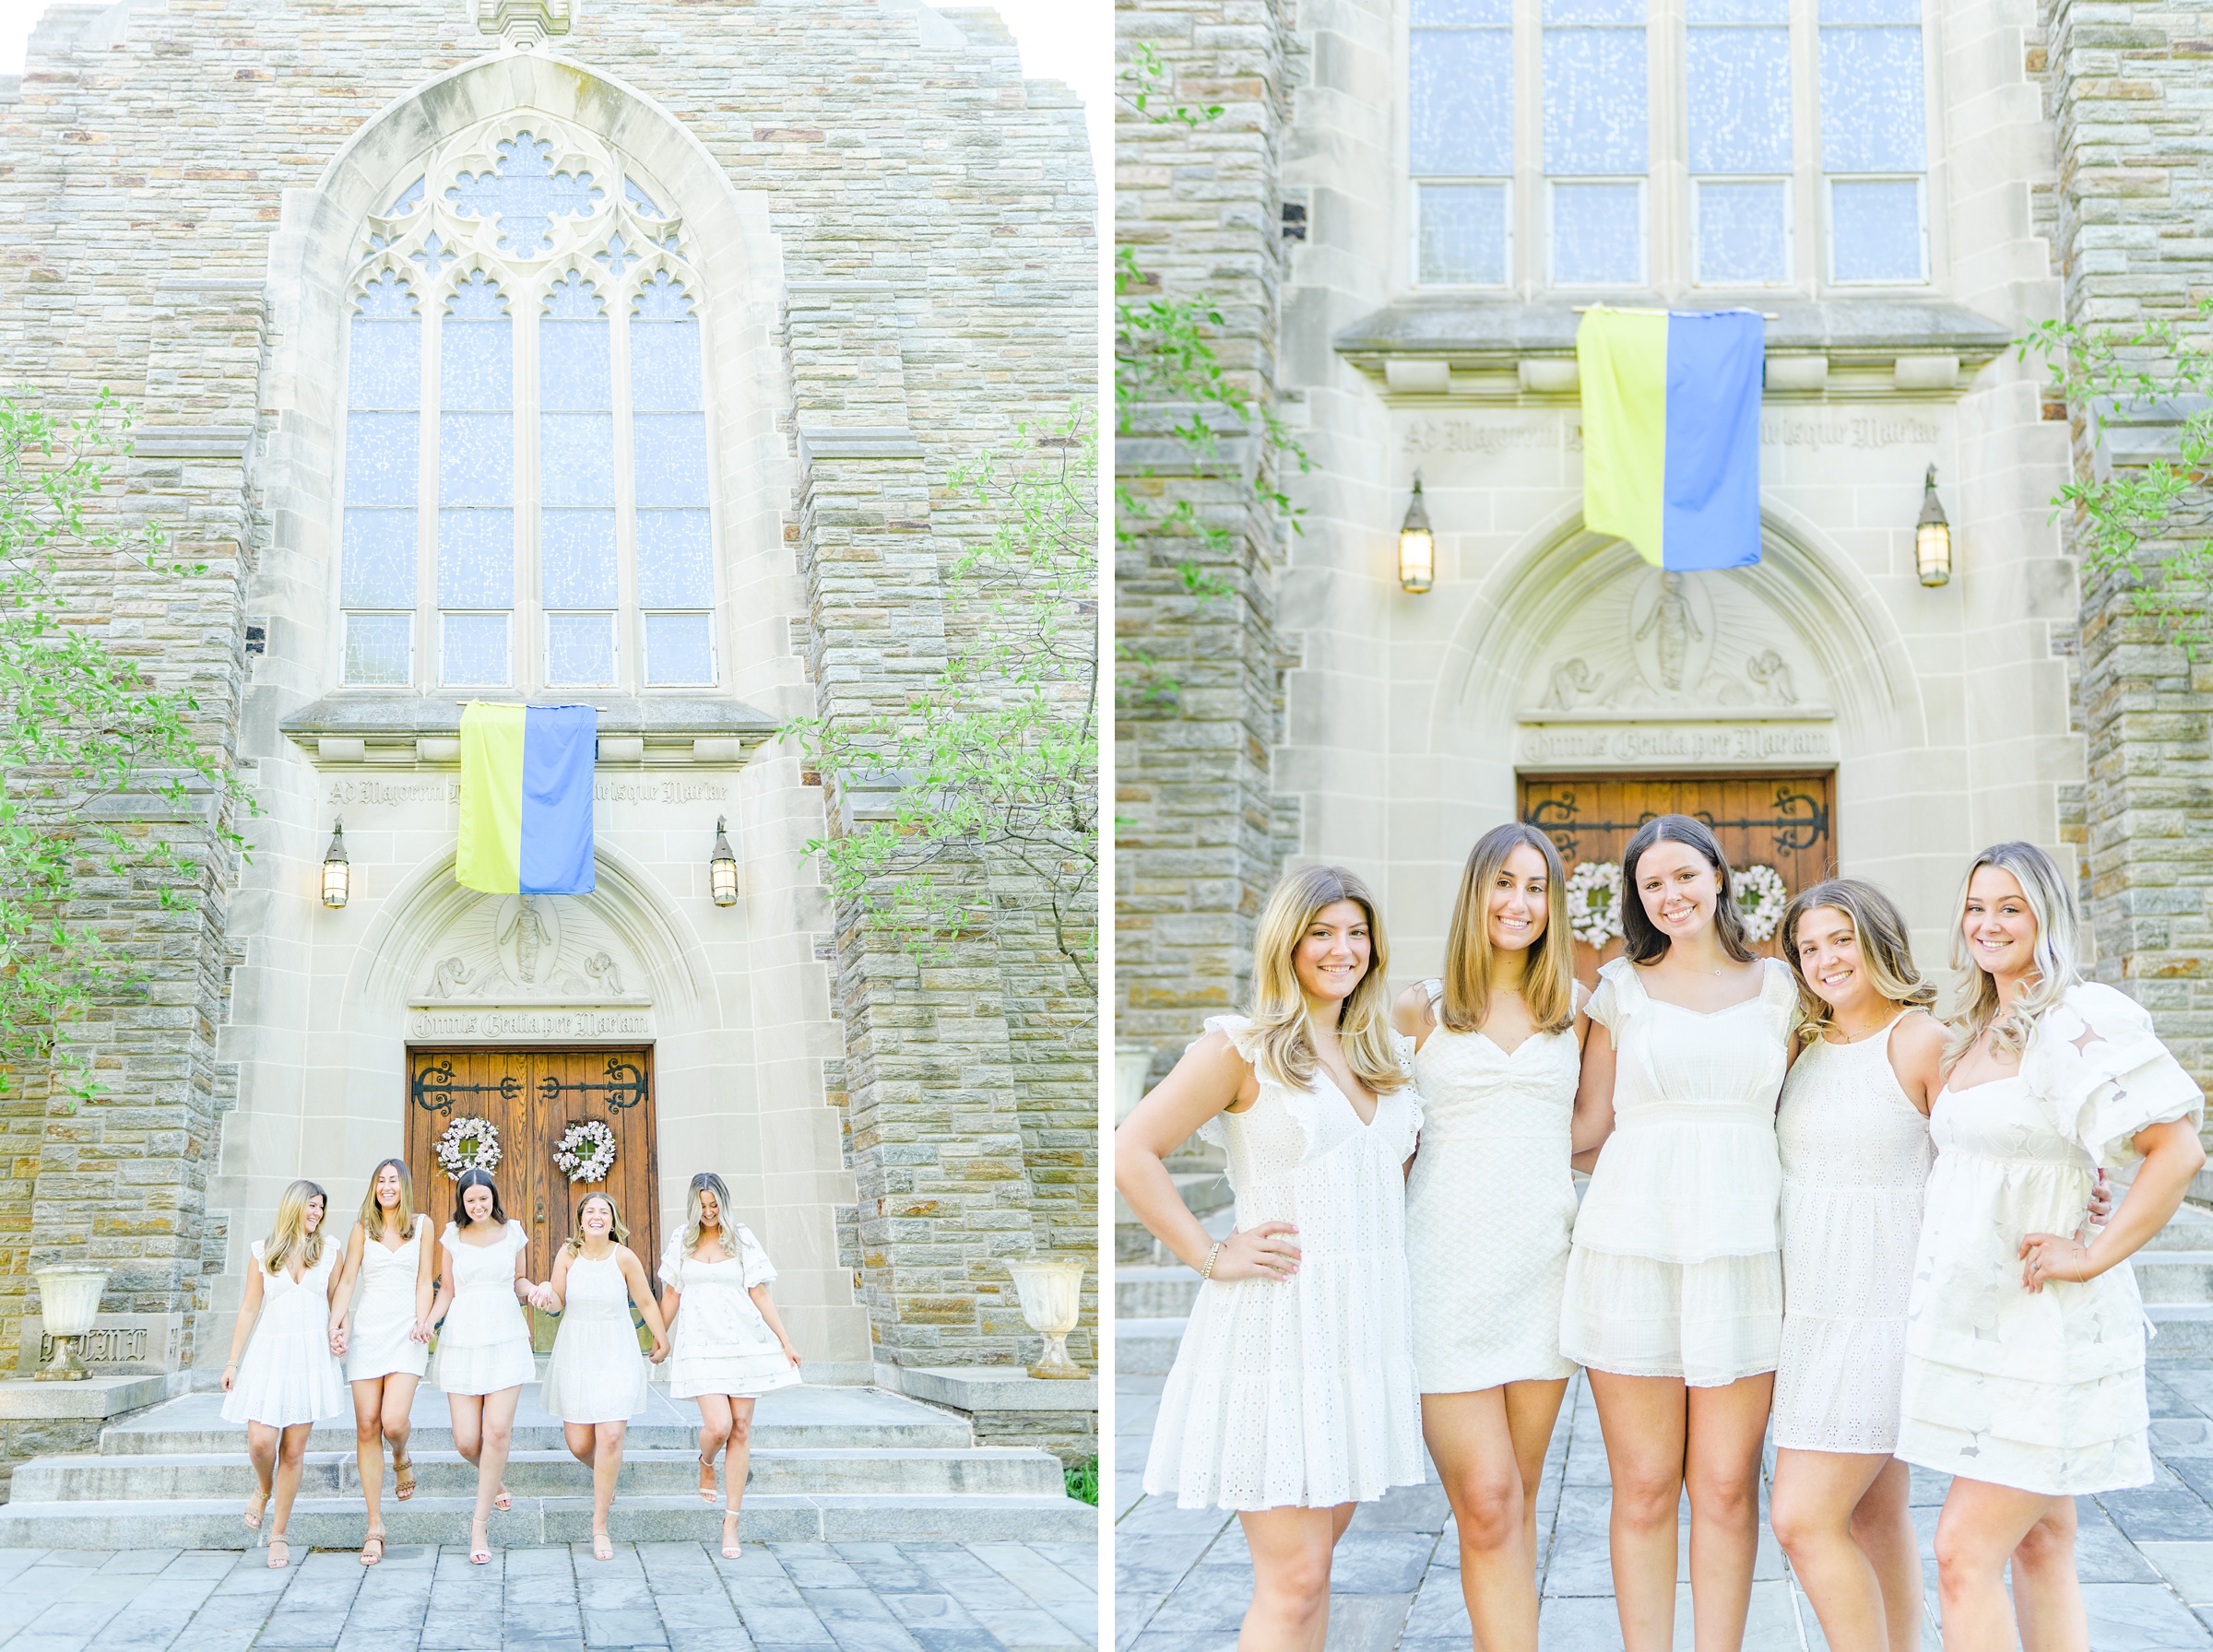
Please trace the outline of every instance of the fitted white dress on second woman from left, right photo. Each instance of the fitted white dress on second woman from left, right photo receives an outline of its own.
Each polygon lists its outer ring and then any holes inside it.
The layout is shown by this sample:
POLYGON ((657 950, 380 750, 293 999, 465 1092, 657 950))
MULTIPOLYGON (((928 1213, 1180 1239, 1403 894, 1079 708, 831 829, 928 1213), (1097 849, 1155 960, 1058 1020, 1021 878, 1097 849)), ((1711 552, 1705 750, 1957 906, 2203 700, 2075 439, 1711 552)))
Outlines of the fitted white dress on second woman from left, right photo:
MULTIPOLYGON (((1507 1055, 1443 1024, 1443 982, 1423 982, 1436 1028, 1414 1057, 1421 1157, 1405 1192, 1414 1380, 1423 1393, 1576 1376, 1560 1358, 1560 1294, 1576 1227, 1576 1026, 1507 1055)), ((1578 989, 1578 1000, 1580 1000, 1578 989)))

